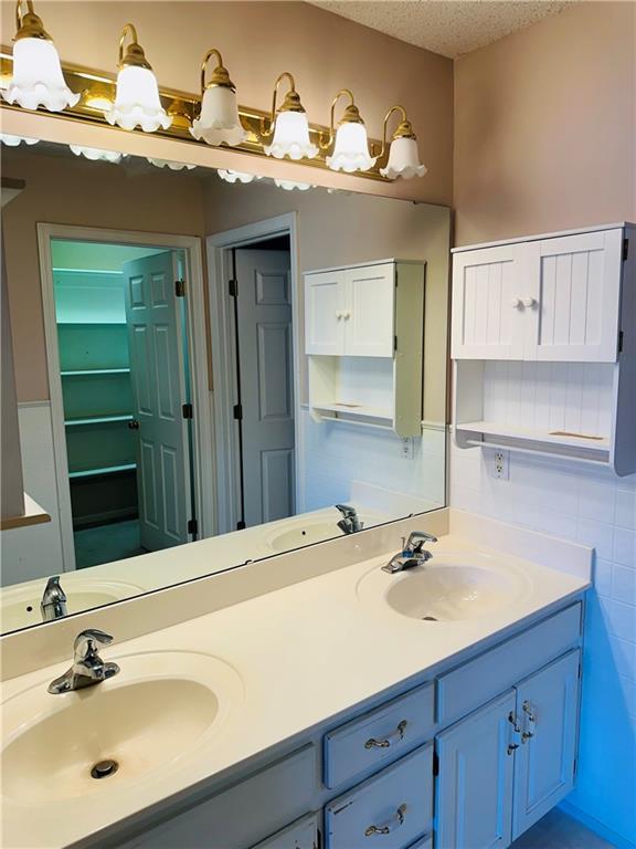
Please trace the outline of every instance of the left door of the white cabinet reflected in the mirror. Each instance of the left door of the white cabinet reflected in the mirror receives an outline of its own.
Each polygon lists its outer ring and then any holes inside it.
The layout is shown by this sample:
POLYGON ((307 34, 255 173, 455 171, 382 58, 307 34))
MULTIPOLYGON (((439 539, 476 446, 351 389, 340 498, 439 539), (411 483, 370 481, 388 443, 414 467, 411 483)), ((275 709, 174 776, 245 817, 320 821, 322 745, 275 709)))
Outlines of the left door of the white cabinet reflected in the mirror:
POLYGON ((321 271, 305 275, 307 354, 344 354, 346 298, 344 272, 321 271))

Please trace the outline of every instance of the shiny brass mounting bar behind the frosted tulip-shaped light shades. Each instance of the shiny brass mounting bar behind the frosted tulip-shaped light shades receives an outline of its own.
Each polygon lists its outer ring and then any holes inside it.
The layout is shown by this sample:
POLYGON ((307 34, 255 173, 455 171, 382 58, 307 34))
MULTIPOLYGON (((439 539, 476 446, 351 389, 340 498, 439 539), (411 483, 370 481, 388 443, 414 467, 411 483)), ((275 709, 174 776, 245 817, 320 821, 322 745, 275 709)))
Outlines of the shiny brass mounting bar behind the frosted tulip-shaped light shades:
MULTIPOLYGON (((12 66, 13 60, 11 50, 1 46, 0 87, 4 87, 7 81, 11 77, 12 66)), ((67 107, 62 113, 46 113, 46 115, 50 117, 71 118, 78 122, 100 124, 104 127, 109 127, 117 132, 141 133, 141 130, 138 129, 120 130, 116 127, 112 127, 105 118, 105 109, 109 108, 115 101, 116 77, 114 74, 95 71, 81 65, 73 65, 67 62, 62 62, 62 70, 68 87, 74 92, 81 92, 82 96, 75 106, 67 107)), ((204 145, 204 142, 198 142, 190 134, 192 120, 199 115, 201 96, 161 86, 159 87, 159 96, 161 105, 169 115, 173 116, 173 120, 168 129, 160 128, 153 135, 178 138, 180 142, 189 142, 192 145, 204 145)), ((21 107, 2 103, 2 108, 20 109, 21 107)), ((226 150, 242 150, 244 153, 269 158, 266 157, 266 154, 264 153, 264 144, 262 142, 263 126, 267 125, 271 118, 269 112, 254 109, 247 106, 239 106, 239 115, 241 116, 243 126, 247 130, 247 138, 235 147, 223 146, 223 148, 226 150)), ((326 163, 328 149, 325 149, 325 144, 329 137, 329 127, 319 124, 309 124, 309 138, 320 148, 320 150, 316 158, 303 159, 299 164, 329 170, 326 163)), ((379 156, 382 150, 382 143, 378 139, 369 139, 369 147, 372 156, 379 156)), ((390 180, 386 180, 380 174, 380 161, 377 161, 369 170, 357 171, 354 176, 390 182, 390 180)))

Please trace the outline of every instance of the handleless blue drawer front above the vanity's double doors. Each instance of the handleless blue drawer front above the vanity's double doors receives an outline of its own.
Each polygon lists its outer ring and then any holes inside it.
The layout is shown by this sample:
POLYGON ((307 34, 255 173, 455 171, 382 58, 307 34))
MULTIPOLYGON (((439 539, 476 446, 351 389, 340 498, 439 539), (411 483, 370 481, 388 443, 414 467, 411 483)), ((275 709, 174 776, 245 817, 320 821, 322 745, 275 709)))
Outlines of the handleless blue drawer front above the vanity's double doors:
POLYGON ((437 721, 447 725, 549 661, 581 637, 581 602, 561 610, 437 679, 437 721))

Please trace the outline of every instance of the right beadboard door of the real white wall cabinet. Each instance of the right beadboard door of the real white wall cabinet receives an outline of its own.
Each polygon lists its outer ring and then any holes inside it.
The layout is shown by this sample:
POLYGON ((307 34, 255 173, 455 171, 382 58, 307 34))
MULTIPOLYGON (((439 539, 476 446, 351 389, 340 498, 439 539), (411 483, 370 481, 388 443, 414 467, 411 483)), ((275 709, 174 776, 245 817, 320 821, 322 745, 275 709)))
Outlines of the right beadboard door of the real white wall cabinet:
POLYGON ((544 239, 529 248, 533 285, 526 312, 533 329, 526 358, 615 363, 623 230, 544 239))

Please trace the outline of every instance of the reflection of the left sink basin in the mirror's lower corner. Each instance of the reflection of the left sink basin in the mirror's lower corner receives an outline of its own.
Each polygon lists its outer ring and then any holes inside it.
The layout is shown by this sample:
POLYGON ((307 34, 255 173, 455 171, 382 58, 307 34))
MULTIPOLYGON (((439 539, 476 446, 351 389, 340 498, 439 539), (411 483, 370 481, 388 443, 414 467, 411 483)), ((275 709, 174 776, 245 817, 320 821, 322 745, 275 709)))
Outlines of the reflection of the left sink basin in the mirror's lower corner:
MULTIPOLYGON (((70 614, 78 614, 91 610, 94 607, 109 605, 112 601, 120 601, 144 593, 142 587, 124 580, 103 580, 91 577, 60 580, 66 594, 67 609, 70 614)), ((42 621, 40 601, 46 580, 30 581, 25 586, 7 587, 0 590, 0 621, 2 632, 14 631, 19 628, 28 628, 42 621)))

